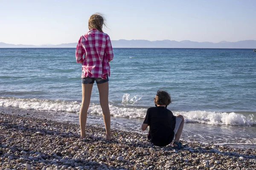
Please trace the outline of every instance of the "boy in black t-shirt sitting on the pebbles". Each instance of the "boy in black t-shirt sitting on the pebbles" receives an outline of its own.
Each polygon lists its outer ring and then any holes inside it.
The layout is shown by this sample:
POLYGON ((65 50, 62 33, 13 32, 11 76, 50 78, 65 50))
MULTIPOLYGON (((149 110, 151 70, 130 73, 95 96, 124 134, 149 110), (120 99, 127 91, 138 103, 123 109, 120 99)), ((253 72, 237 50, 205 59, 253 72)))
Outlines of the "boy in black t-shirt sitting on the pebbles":
POLYGON ((183 148, 180 136, 183 130, 184 117, 182 115, 173 116, 172 111, 167 109, 171 103, 170 94, 167 91, 157 91, 154 103, 156 107, 148 108, 141 129, 144 131, 149 126, 148 139, 154 145, 166 146, 172 142, 175 136, 173 148, 183 148))

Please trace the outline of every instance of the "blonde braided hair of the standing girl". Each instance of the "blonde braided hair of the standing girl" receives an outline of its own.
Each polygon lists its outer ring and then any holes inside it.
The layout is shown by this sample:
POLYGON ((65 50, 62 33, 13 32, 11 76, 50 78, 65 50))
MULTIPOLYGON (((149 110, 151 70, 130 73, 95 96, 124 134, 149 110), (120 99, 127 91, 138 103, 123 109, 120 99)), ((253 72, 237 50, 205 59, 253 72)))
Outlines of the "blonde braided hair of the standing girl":
POLYGON ((102 27, 106 26, 105 24, 105 18, 102 14, 100 13, 95 13, 95 14, 92 14, 90 17, 89 17, 89 20, 88 20, 88 28, 89 29, 97 29, 101 32, 102 31, 102 27))

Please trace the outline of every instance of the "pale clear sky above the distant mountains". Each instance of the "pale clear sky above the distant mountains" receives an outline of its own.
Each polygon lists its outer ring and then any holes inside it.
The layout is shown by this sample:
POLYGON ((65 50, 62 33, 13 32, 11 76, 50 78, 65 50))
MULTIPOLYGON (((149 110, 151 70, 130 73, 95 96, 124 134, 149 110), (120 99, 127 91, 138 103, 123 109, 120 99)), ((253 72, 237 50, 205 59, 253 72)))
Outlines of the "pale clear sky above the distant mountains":
POLYGON ((255 0, 0 0, 0 42, 78 42, 96 12, 111 40, 256 40, 255 0))

